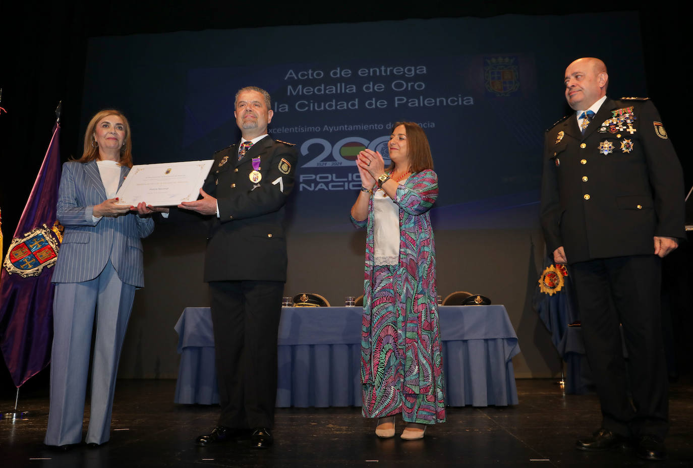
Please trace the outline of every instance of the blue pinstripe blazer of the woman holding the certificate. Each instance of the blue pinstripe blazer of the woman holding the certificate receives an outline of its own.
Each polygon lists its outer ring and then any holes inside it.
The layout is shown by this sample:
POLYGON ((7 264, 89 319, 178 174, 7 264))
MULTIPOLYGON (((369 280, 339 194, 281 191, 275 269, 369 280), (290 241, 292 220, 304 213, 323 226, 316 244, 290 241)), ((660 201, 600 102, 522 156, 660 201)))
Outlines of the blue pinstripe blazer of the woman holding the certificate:
MULTIPOLYGON (((121 166, 121 180, 130 168, 121 166)), ((58 220, 65 227, 53 283, 78 283, 96 278, 110 259, 123 283, 144 286, 141 238, 154 230, 151 218, 134 212, 94 223, 94 205, 106 200, 96 161, 71 161, 62 166, 58 220)))

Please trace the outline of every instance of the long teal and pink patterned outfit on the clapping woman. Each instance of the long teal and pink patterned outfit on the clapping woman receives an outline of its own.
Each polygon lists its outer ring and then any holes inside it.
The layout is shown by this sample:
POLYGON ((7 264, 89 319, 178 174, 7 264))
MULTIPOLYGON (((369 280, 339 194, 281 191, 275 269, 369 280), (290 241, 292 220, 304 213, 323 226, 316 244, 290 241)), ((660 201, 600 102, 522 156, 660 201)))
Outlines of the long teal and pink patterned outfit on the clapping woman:
POLYGON ((405 422, 444 422, 435 243, 428 211, 438 196, 432 170, 410 175, 396 193, 400 248, 396 265, 374 264, 373 196, 367 220, 361 333, 362 415, 402 413, 405 422))

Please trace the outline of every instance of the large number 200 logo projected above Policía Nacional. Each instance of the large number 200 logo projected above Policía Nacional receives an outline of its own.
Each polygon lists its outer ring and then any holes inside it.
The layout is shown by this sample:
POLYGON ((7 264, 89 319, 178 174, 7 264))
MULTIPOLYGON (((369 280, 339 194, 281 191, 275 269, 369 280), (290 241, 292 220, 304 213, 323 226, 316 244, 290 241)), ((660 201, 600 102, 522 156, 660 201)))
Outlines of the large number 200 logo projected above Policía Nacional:
POLYGON ((301 145, 301 155, 308 156, 310 147, 314 145, 321 146, 322 150, 319 155, 313 157, 313 159, 310 159, 310 161, 306 162, 306 164, 303 164, 301 167, 356 166, 356 157, 358 153, 366 148, 380 152, 380 154, 383 155, 383 159, 385 159, 385 166, 387 166, 387 164, 389 164, 389 153, 387 151, 388 141, 389 136, 378 137, 373 141, 368 141, 361 137, 347 137, 342 138, 332 146, 326 139, 311 138, 304 141, 304 144, 301 145), (325 161, 324 159, 326 159, 330 153, 334 160, 325 161))

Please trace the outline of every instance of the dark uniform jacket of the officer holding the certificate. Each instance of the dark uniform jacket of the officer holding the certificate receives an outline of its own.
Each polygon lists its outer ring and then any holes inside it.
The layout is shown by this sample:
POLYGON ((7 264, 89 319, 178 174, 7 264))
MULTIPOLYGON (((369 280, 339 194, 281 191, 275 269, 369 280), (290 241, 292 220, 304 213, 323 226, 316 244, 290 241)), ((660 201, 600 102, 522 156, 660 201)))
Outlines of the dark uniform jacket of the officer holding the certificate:
POLYGON ((207 239, 204 281, 286 281, 284 204, 294 186, 297 163, 292 144, 269 135, 238 160, 238 144, 214 154, 203 189, 217 199, 207 239), (259 158, 261 180, 253 182, 259 158))

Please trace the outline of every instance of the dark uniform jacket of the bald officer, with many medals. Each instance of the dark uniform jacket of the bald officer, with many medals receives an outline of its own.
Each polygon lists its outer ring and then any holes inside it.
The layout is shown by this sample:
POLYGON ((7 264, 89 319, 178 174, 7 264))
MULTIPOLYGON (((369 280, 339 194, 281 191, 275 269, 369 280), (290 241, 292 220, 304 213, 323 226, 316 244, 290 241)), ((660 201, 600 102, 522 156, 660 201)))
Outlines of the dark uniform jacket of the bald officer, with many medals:
POLYGON ((544 141, 541 225, 570 263, 652 254, 684 236, 683 173, 656 107, 606 99, 585 135, 571 114, 544 141))

